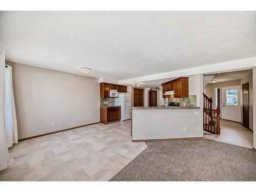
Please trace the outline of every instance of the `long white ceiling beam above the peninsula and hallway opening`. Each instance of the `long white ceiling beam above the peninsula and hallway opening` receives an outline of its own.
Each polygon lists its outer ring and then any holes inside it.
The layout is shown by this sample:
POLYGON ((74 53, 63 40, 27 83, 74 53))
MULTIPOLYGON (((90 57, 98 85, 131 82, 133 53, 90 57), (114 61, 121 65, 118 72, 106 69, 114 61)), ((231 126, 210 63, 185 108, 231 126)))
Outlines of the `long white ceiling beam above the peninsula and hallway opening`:
POLYGON ((196 75, 201 73, 211 73, 211 72, 222 72, 225 70, 232 70, 236 71, 237 69, 248 69, 256 66, 256 57, 228 61, 217 63, 214 65, 178 70, 178 71, 170 71, 166 73, 159 73, 155 75, 147 75, 142 77, 136 77, 131 79, 123 79, 119 80, 119 84, 129 84, 134 82, 142 82, 142 81, 149 81, 149 80, 157 80, 157 79, 165 79, 165 78, 172 78, 172 77, 180 77, 180 76, 188 76, 188 75, 196 75))

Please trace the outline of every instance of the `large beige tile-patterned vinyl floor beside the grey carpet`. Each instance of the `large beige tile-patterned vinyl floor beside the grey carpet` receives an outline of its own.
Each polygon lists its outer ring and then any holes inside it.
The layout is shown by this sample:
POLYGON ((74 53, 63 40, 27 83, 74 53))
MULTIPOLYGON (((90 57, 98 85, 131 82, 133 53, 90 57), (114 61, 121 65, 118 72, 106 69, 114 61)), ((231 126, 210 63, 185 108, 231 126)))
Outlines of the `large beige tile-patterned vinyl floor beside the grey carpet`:
POLYGON ((0 180, 108 181, 146 148, 132 142, 131 120, 97 123, 18 142, 0 180))

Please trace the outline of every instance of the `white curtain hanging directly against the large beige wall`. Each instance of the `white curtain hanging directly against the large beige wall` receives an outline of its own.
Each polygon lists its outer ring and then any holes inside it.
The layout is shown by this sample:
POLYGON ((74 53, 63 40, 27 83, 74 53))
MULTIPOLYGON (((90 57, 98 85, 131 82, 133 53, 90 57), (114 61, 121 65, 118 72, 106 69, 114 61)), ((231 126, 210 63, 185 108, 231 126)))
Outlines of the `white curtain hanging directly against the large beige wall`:
POLYGON ((17 119, 15 112, 13 88, 12 88, 12 67, 5 68, 5 115, 8 148, 18 142, 17 119))

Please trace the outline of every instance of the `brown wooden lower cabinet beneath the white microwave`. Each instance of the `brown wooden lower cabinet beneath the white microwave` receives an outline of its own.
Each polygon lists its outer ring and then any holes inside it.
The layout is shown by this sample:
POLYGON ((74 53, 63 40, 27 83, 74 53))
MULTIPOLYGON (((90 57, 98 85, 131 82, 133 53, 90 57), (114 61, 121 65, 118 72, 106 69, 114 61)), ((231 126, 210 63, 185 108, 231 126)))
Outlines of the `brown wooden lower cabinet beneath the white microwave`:
POLYGON ((100 107, 100 122, 107 124, 121 119, 121 106, 100 107))

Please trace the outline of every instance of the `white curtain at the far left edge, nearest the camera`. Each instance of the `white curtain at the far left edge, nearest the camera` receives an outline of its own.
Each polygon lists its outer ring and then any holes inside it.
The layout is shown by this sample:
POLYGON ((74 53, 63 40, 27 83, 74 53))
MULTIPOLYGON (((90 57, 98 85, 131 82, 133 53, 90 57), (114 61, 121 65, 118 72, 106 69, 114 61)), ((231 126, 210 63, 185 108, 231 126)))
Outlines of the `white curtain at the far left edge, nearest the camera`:
POLYGON ((5 52, 0 50, 0 170, 9 161, 5 118, 5 52))

